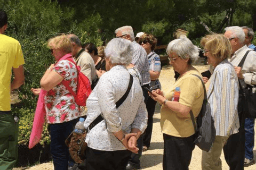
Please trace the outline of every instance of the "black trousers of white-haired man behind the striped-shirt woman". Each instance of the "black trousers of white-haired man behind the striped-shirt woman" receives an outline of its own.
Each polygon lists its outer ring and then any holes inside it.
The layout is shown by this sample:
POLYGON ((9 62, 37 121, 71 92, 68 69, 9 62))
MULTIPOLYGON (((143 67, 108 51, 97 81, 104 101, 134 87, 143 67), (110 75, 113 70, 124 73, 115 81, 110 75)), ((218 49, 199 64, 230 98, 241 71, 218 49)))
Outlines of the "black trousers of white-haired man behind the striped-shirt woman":
POLYGON ((245 157, 245 111, 243 109, 245 100, 239 95, 238 99, 238 116, 239 132, 230 135, 226 145, 223 147, 224 156, 230 170, 243 170, 245 157))

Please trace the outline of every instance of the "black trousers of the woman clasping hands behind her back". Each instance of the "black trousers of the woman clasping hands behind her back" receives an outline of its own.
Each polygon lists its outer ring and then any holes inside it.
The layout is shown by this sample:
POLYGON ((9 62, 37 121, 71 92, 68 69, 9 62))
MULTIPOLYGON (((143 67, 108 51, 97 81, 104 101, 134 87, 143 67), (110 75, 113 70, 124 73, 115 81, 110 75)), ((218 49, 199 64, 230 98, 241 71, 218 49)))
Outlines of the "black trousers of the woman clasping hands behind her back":
POLYGON ((129 150, 102 151, 86 149, 86 170, 124 170, 131 156, 129 150))

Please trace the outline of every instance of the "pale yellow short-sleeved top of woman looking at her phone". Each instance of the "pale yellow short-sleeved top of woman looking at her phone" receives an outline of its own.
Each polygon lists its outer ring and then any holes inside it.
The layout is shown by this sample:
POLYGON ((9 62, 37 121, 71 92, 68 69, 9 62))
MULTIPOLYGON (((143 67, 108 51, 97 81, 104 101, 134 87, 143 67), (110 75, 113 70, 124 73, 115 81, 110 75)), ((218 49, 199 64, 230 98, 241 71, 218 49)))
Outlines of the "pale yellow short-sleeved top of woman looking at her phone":
MULTIPOLYGON (((168 100, 172 100, 175 88, 180 87, 179 103, 191 107, 194 117, 197 117, 203 104, 204 89, 201 80, 191 74, 201 76, 196 69, 188 71, 174 83, 170 91, 165 93, 165 97, 168 100)), ((174 137, 190 137, 195 133, 190 114, 188 114, 187 117, 179 117, 178 113, 173 112, 164 105, 161 107, 160 124, 162 133, 174 137)))

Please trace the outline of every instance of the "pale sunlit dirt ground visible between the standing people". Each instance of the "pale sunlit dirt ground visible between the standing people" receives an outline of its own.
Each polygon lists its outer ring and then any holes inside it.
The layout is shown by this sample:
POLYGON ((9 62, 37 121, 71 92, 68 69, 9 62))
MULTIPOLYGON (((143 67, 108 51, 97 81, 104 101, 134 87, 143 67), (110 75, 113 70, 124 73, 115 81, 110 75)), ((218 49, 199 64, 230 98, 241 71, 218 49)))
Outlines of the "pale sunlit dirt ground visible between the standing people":
MULTIPOLYGON (((203 65, 202 62, 199 61, 195 65, 196 69, 199 72, 206 71, 209 66, 203 65)), ((174 83, 174 72, 171 66, 164 66, 162 68, 159 80, 162 84, 162 89, 165 91, 168 89, 173 83, 174 83)), ((152 139, 151 139, 151 145, 149 150, 146 152, 142 152, 141 156, 141 169, 143 170, 158 170, 158 169, 163 169, 162 168, 162 161, 163 161, 163 134, 161 132, 161 127, 160 127, 160 118, 161 115, 159 113, 160 106, 157 104, 156 105, 156 110, 154 114, 154 124, 153 124, 153 134, 152 134, 152 139)), ((255 129, 256 130, 256 129, 255 129)), ((256 143, 256 141, 255 141, 256 143)), ((256 146, 254 147, 254 159, 256 158, 256 146)), ((189 166, 190 170, 198 170, 201 169, 201 157, 202 157, 202 150, 199 149, 197 146, 193 151, 191 163, 189 166)), ((221 160, 222 160, 222 169, 223 170, 228 170, 229 167, 225 161, 223 152, 221 154, 221 160)), ((22 168, 14 168, 14 170, 20 170, 22 168)), ((30 168, 26 168, 29 170, 41 170, 41 169, 47 169, 47 170, 52 170, 53 164, 52 163, 45 163, 45 164, 39 164, 30 168)), ((256 164, 251 165, 249 167, 245 167, 245 170, 255 170, 256 169, 256 164)))

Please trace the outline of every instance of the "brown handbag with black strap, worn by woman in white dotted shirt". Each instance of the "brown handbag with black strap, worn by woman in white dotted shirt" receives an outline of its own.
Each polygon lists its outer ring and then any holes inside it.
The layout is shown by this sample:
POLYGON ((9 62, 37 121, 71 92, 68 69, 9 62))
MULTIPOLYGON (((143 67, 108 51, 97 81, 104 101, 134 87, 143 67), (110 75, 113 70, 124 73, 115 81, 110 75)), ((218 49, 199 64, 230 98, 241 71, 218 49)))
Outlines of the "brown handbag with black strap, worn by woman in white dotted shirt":
MULTIPOLYGON (((130 82, 129 86, 125 92, 125 94, 116 102, 116 108, 118 108, 124 100, 129 95, 133 83, 133 77, 130 74, 130 82)), ((88 130, 91 130, 95 125, 103 121, 102 114, 100 114, 95 120, 88 126, 86 131, 82 134, 74 134, 73 132, 69 135, 69 137, 65 140, 67 147, 69 148, 69 154, 74 159, 74 161, 78 164, 81 164, 84 159, 86 159, 85 150, 87 148, 87 143, 85 142, 86 134, 88 130)))

